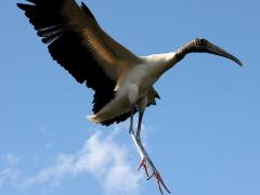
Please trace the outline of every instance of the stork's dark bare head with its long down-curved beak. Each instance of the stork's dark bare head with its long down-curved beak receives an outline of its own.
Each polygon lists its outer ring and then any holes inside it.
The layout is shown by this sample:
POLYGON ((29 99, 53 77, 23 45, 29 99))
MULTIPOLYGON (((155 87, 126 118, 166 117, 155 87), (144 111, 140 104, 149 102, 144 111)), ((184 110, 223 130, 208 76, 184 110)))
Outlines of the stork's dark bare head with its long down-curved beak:
POLYGON ((188 52, 206 52, 206 53, 211 53, 214 55, 223 56, 226 58, 230 58, 234 61, 236 64, 239 66, 243 66, 242 62, 235 57, 234 55, 227 53, 223 49, 214 46, 213 43, 209 42, 206 39, 194 39, 193 41, 193 47, 190 48, 191 50, 188 52))

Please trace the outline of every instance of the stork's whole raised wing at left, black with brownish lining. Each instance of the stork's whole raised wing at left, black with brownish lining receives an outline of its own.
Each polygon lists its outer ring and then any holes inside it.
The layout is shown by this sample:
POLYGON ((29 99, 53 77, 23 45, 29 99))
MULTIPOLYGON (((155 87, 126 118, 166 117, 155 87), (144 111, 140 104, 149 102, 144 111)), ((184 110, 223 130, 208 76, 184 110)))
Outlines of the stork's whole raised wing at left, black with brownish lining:
POLYGON ((61 66, 95 91, 93 112, 114 98, 120 76, 140 60, 99 26, 91 11, 75 0, 27 0, 17 3, 61 66))

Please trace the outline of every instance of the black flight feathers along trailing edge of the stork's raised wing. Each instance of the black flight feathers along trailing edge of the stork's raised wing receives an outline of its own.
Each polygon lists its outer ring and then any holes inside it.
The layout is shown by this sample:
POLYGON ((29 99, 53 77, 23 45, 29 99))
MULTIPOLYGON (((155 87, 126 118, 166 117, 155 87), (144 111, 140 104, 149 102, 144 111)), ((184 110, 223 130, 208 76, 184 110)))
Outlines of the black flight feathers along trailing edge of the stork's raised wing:
MULTIPOLYGON (((42 42, 49 44, 49 52, 53 60, 68 70, 78 82, 86 83, 87 87, 95 91, 92 110, 98 113, 114 99, 116 83, 105 75, 91 52, 81 44, 80 36, 66 27, 66 21, 60 13, 64 0, 27 1, 34 4, 17 3, 17 6, 25 11, 25 15, 35 26, 37 35, 42 37, 42 42)), ((86 14, 94 20, 93 14, 84 3, 81 8, 86 14)), ((109 126, 114 122, 125 121, 129 117, 130 113, 126 113, 104 121, 103 125, 109 126)))

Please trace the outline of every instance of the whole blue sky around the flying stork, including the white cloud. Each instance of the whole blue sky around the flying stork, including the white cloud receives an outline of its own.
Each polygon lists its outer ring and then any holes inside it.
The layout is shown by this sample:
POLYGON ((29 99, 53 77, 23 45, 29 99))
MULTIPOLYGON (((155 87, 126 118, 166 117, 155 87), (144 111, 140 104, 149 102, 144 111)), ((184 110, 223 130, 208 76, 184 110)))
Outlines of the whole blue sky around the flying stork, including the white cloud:
MULTIPOLYGON (((147 151, 178 195, 260 194, 260 2, 84 0, 139 55, 205 37, 236 55, 191 54, 157 83, 145 113, 147 151)), ((128 122, 86 120, 92 91, 53 62, 27 18, 0 6, 0 194, 150 194, 128 122)))

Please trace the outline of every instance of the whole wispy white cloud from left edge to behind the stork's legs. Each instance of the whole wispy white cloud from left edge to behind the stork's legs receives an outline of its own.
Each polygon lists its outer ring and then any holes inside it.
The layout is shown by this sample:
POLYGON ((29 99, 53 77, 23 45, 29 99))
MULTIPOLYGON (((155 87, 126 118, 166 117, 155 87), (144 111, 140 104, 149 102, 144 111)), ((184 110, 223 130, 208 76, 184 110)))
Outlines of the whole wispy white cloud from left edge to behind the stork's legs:
MULTIPOLYGON (((3 167, 2 170, 0 169, 0 190, 4 185, 22 191, 36 185, 57 186, 62 184, 63 179, 89 174, 96 179, 96 183, 107 195, 136 195, 140 193, 142 182, 145 182, 144 172, 136 171, 138 152, 134 146, 129 148, 129 144, 126 146, 116 139, 118 132, 123 130, 123 133, 127 133, 128 128, 129 125, 122 122, 115 126, 109 134, 90 130, 92 135, 78 152, 57 155, 53 164, 41 168, 31 177, 26 176, 27 170, 18 168, 26 158, 20 158, 12 153, 1 155, 3 167)), ((142 128, 145 142, 151 128, 142 128)), ((130 136, 129 143, 131 143, 130 136)))

